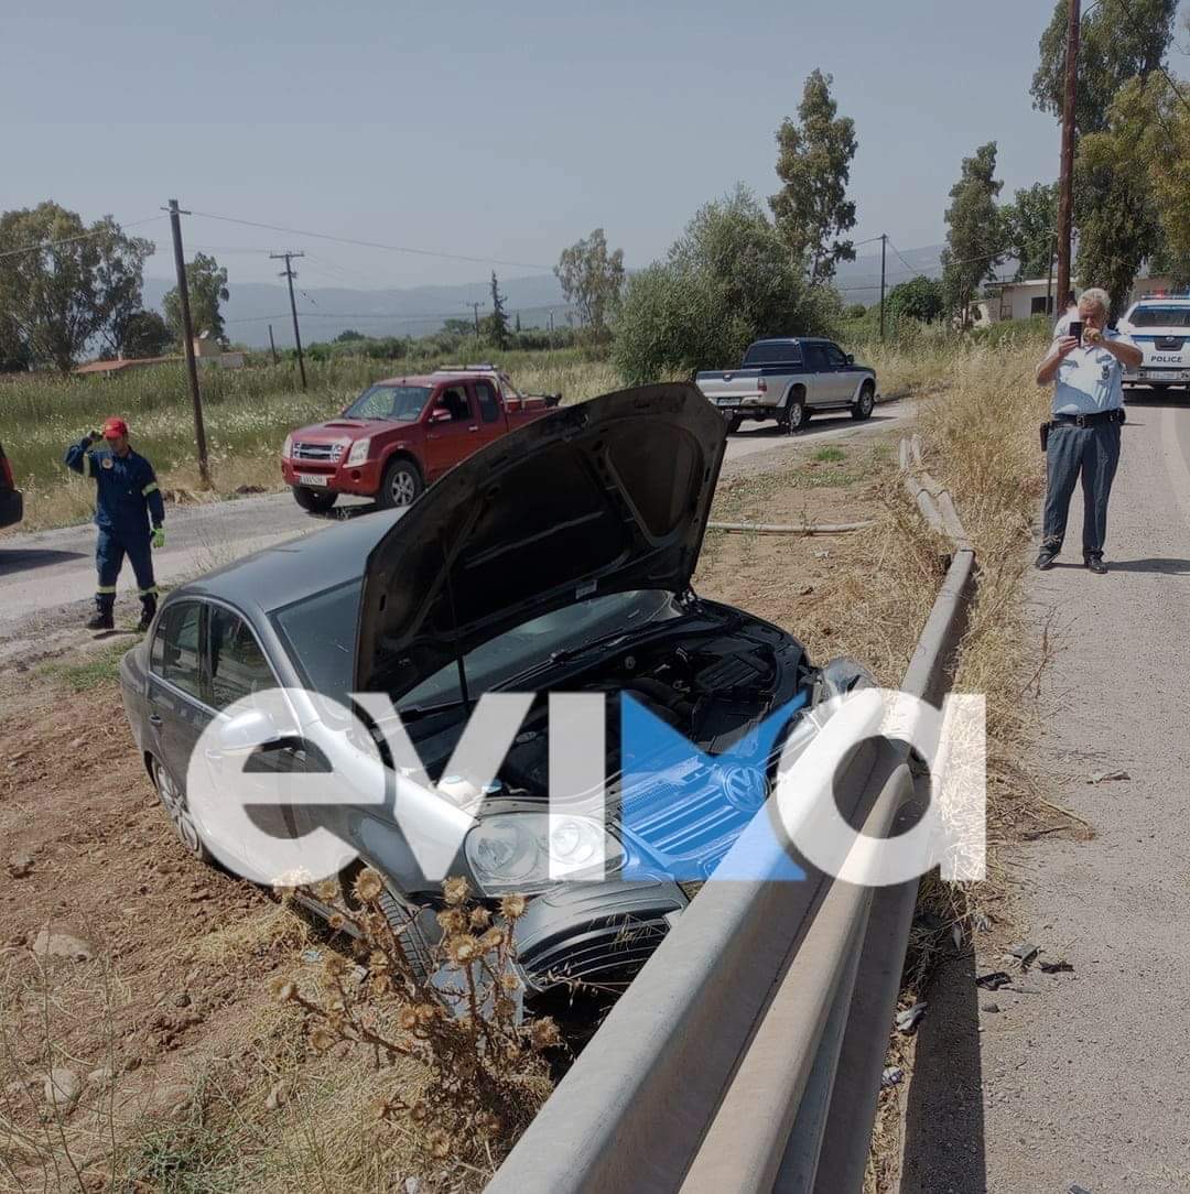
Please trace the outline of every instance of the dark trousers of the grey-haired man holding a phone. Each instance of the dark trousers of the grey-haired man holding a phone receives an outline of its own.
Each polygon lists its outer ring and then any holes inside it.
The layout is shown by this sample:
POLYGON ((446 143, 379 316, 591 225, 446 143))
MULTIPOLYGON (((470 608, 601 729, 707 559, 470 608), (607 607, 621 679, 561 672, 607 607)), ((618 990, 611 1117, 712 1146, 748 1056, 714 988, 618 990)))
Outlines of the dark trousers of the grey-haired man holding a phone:
POLYGON ((1108 537, 1108 498, 1120 463, 1120 424, 1092 427, 1057 423, 1045 449, 1045 516, 1042 543, 1057 552, 1066 538, 1074 482, 1082 478, 1082 554, 1102 555, 1108 537))

